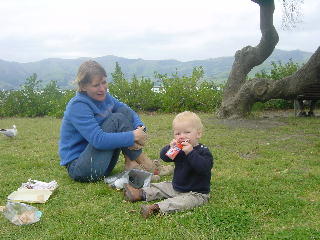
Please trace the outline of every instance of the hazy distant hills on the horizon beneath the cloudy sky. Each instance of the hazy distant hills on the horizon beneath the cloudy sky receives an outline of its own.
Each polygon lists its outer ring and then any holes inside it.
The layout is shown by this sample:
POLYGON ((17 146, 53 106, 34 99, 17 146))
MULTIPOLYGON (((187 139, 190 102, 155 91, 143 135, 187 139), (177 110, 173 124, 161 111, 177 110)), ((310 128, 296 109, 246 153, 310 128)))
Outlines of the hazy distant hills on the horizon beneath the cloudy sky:
MULTIPOLYGON (((300 50, 284 51, 275 49, 272 55, 260 66, 251 71, 251 75, 261 69, 271 69, 272 61, 286 63, 289 59, 293 62, 304 63, 312 53, 300 50)), ((44 84, 56 80, 62 88, 72 88, 72 81, 80 64, 90 58, 59 59, 50 58, 37 62, 18 63, 0 60, 0 89, 16 89, 25 82, 25 79, 33 73, 44 84)), ((91 58, 102 64, 106 69, 109 79, 114 71, 115 63, 118 62, 125 76, 130 79, 133 74, 137 77, 153 78, 154 72, 172 74, 178 71, 180 75, 189 75, 195 66, 202 66, 207 79, 223 82, 228 78, 234 57, 219 57, 205 60, 181 62, 177 60, 144 60, 127 59, 116 56, 104 56, 91 58)))

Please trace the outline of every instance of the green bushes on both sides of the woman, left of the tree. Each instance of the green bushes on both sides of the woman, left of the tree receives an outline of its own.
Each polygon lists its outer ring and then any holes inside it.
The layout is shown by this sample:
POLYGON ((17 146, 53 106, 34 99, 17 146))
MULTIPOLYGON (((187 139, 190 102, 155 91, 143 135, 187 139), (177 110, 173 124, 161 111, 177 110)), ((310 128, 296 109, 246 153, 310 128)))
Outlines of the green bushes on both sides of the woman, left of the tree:
MULTIPOLYGON (((119 64, 112 73, 110 93, 135 111, 181 112, 185 110, 213 112, 221 104, 222 86, 203 81, 202 67, 195 67, 191 76, 171 77, 155 74, 160 91, 154 90, 149 78, 124 77, 119 64)), ((61 90, 56 81, 41 86, 41 80, 33 74, 20 90, 0 92, 0 114, 4 117, 62 117, 66 104, 75 90, 61 90)))

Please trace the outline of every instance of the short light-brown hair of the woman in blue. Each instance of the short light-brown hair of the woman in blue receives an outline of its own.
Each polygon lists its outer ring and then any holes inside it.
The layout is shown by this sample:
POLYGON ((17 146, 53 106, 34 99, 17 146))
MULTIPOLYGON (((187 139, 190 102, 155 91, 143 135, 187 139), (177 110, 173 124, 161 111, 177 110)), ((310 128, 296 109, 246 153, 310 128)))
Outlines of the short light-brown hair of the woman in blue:
POLYGON ((82 63, 74 80, 77 85, 77 91, 80 92, 81 88, 91 83, 92 78, 97 75, 107 77, 106 70, 99 63, 93 60, 82 63))

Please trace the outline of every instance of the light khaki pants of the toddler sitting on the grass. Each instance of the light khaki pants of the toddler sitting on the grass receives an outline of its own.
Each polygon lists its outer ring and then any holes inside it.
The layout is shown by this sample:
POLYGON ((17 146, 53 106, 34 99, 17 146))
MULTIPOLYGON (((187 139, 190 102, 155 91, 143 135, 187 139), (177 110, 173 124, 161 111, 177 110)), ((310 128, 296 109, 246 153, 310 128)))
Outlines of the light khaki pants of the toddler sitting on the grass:
POLYGON ((177 192, 173 189, 171 182, 151 183, 150 187, 143 188, 143 191, 146 194, 146 201, 165 199, 156 203, 163 213, 191 209, 209 200, 209 194, 177 192))

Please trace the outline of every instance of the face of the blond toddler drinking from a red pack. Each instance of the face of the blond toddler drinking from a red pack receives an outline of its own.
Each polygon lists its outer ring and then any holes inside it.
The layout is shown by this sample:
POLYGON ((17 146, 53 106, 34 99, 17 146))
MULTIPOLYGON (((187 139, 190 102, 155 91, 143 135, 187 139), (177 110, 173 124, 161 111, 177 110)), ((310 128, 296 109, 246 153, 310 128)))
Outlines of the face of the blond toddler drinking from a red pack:
POLYGON ((173 136, 178 142, 188 141, 192 146, 196 146, 201 132, 190 121, 180 121, 173 124, 173 136))

